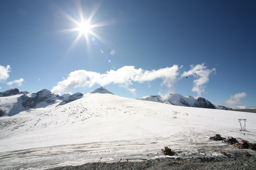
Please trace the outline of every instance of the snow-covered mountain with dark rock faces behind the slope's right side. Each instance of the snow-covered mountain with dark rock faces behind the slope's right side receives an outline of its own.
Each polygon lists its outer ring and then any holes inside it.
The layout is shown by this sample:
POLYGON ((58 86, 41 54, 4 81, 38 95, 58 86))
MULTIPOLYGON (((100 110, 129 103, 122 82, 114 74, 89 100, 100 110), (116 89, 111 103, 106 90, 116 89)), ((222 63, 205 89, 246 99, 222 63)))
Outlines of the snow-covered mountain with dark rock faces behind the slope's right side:
POLYGON ((137 98, 138 100, 153 101, 159 103, 166 103, 175 106, 186 106, 186 107, 198 107, 207 109, 222 109, 229 110, 225 106, 214 105, 203 97, 192 97, 192 96, 182 96, 180 94, 168 94, 163 96, 145 96, 137 98))

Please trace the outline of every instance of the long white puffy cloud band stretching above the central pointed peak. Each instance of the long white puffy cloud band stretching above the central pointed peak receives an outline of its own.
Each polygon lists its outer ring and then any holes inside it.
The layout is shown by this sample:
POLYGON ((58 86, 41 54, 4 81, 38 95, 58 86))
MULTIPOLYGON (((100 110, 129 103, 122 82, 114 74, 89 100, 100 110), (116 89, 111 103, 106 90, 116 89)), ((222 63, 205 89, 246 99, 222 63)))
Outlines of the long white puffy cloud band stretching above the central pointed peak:
POLYGON ((167 88, 172 88, 178 79, 178 70, 179 67, 177 65, 151 71, 143 70, 141 68, 135 69, 134 66, 124 66, 116 71, 110 70, 103 74, 86 70, 76 70, 71 72, 67 79, 58 82, 58 85, 53 87, 51 91, 55 94, 61 94, 77 87, 92 87, 95 84, 104 86, 114 83, 135 94, 136 89, 129 88, 133 82, 143 83, 158 78, 163 80, 161 85, 164 85, 167 88))

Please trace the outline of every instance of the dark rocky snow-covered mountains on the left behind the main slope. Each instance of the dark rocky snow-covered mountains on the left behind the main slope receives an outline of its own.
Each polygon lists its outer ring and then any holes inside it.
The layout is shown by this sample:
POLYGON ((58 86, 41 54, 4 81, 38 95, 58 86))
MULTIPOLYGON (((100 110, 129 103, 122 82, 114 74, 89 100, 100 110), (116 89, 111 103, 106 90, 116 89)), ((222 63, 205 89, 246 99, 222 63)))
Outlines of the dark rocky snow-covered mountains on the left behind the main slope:
POLYGON ((0 128, 23 122, 38 113, 56 107, 58 104, 62 105, 82 96, 81 93, 59 96, 47 89, 35 93, 22 92, 17 88, 0 92, 0 128))

